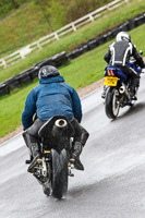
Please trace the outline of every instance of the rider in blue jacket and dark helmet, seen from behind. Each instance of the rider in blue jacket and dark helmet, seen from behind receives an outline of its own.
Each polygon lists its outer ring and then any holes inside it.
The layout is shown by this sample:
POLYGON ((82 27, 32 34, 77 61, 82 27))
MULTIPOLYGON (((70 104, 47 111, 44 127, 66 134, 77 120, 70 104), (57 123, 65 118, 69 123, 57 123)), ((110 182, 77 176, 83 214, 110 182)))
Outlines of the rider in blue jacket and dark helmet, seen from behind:
POLYGON ((40 158, 39 129, 51 117, 58 114, 67 117, 74 126, 75 135, 71 160, 76 169, 84 170, 80 155, 88 138, 88 132, 80 124, 82 106, 78 95, 52 65, 43 66, 38 77, 39 85, 28 94, 22 113, 23 137, 33 156, 27 171, 34 172, 37 160, 40 158), (33 120, 34 114, 37 118, 35 121, 33 120))

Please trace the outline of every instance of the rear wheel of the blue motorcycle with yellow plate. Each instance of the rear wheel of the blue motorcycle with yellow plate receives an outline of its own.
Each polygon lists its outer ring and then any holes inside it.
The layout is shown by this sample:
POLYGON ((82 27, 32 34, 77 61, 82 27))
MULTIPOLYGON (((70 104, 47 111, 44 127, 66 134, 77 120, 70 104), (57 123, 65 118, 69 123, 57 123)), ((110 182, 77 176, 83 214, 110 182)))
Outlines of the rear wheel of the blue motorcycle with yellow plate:
POLYGON ((119 113, 119 90, 117 88, 109 87, 106 101, 105 111, 109 119, 116 119, 119 113))

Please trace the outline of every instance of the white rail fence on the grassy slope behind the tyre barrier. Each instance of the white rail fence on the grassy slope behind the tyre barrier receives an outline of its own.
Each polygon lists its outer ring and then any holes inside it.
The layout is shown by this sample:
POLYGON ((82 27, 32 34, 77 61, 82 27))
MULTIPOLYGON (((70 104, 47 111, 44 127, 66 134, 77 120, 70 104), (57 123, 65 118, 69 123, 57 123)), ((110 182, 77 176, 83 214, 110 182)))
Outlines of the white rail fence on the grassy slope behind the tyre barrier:
POLYGON ((0 68, 7 68, 8 65, 12 65, 16 62, 19 62, 21 59, 24 59, 25 56, 31 53, 35 49, 41 49, 41 47, 46 44, 51 43, 52 40, 59 40, 61 36, 70 33, 70 32, 76 32, 77 28, 85 25, 88 22, 94 22, 94 20, 98 16, 100 16, 102 13, 113 10, 118 7, 120 7, 122 3, 128 3, 129 0, 114 0, 105 7, 101 7, 92 13, 63 26, 62 28, 59 28, 58 31, 53 32, 52 34, 49 34, 47 36, 41 37, 37 41, 27 45, 26 47, 4 57, 0 58, 0 68))

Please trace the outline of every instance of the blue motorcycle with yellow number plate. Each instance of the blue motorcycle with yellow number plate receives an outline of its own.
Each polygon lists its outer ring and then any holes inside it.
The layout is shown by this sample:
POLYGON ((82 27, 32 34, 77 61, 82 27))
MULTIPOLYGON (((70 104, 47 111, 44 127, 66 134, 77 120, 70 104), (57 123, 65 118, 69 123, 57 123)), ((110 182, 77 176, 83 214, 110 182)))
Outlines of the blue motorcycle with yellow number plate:
MULTIPOLYGON (((142 73, 134 59, 131 59, 129 65, 138 75, 142 73)), ((135 89, 135 95, 131 96, 131 80, 117 66, 108 65, 105 69, 104 87, 106 88, 105 111, 109 119, 116 119, 120 108, 133 106, 137 99, 138 87, 135 89)))

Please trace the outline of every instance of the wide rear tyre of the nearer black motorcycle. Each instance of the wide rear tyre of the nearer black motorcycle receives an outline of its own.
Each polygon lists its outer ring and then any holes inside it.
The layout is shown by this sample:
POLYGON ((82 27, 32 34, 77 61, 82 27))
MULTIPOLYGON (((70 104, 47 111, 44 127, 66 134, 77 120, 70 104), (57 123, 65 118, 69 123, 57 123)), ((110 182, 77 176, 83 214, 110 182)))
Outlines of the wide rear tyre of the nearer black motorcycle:
POLYGON ((52 155, 52 196, 61 199, 68 192, 68 155, 62 149, 59 154, 51 150, 52 155))

